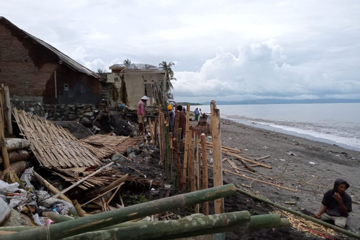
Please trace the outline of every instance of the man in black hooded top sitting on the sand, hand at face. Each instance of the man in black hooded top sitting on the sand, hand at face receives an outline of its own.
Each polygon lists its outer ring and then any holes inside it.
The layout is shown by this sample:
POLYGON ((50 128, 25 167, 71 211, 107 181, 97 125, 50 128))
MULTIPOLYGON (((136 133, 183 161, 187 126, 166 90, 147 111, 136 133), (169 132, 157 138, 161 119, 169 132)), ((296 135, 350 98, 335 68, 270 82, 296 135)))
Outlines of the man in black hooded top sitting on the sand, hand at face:
POLYGON ((351 197, 345 193, 349 186, 341 178, 335 180, 334 188, 324 194, 321 208, 314 217, 320 220, 333 220, 336 226, 345 228, 348 213, 351 212, 351 197))

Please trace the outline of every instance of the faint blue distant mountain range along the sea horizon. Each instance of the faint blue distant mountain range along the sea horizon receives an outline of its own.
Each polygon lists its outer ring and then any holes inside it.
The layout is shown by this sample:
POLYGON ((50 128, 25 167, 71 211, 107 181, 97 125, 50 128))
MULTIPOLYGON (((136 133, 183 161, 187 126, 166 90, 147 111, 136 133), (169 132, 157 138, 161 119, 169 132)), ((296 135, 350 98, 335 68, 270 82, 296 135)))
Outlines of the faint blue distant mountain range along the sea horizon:
MULTIPOLYGON (((217 105, 238 105, 238 104, 296 104, 296 103, 360 103, 360 99, 301 99, 301 100, 285 100, 285 99, 255 99, 242 101, 216 101, 217 105)), ((209 105, 210 102, 201 103, 209 105)))

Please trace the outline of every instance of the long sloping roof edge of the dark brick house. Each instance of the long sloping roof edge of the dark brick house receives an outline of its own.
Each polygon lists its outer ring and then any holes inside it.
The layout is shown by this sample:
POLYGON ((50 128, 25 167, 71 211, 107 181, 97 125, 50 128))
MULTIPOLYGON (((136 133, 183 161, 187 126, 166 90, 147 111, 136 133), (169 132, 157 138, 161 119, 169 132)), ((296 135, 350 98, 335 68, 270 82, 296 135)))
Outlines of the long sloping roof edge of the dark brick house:
POLYGON ((58 49, 51 46, 50 44, 42 41, 41 39, 38 39, 37 37, 32 36, 30 33, 27 33, 24 30, 18 28, 15 24, 10 22, 8 19, 0 16, 0 23, 8 24, 8 25, 16 28, 18 31, 21 31, 21 32, 25 33, 28 37, 35 40, 36 42, 38 42, 39 44, 41 44, 42 46, 46 47, 47 49, 52 51, 54 54, 56 54, 59 57, 59 60, 61 60, 62 63, 66 64, 68 67, 73 68, 74 70, 77 70, 79 72, 85 73, 85 74, 87 74, 89 76, 99 78, 99 80, 104 81, 104 78, 102 76, 100 76, 99 74, 95 73, 94 71, 91 71, 89 68, 86 68, 85 66, 83 66, 80 63, 76 62, 74 59, 72 59, 68 55, 60 52, 58 49))

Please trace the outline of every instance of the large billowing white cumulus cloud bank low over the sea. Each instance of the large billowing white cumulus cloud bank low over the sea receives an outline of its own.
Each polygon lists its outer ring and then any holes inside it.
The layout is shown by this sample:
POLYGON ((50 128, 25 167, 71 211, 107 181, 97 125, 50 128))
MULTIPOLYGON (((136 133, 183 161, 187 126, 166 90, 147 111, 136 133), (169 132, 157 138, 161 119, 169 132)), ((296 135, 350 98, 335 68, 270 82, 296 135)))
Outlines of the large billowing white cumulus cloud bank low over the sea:
POLYGON ((176 72, 176 99, 236 100, 356 95, 360 81, 339 79, 322 64, 287 63, 283 47, 275 40, 239 47, 237 56, 218 49, 198 72, 176 72))

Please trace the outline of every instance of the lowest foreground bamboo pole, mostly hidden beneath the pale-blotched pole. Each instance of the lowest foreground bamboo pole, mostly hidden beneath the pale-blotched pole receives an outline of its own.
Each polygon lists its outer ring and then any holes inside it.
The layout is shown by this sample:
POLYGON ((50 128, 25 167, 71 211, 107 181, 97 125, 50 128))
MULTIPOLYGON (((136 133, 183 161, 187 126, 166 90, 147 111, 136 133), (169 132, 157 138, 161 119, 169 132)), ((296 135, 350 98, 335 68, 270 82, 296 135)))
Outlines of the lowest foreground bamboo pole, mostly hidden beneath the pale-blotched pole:
MULTIPOLYGON (((217 234, 221 232, 233 232, 233 231, 248 231, 248 230, 256 230, 260 228, 280 228, 280 227, 289 227, 290 222, 288 219, 281 218, 279 214, 266 214, 266 215, 257 215, 251 216, 250 222, 242 225, 235 225, 235 226, 224 226, 224 227, 213 227, 210 229, 198 230, 198 231, 188 231, 183 232, 181 234, 172 234, 168 236, 164 236, 161 240, 167 239, 180 239, 184 237, 194 237, 194 236, 201 236, 201 235, 209 235, 209 234, 217 234), (277 215, 277 216, 273 216, 277 215), (263 224, 260 225, 255 223, 258 219, 262 219, 263 224), (265 221, 267 224, 265 224, 265 221)), ((148 240, 156 240, 157 238, 150 238, 148 240)))

